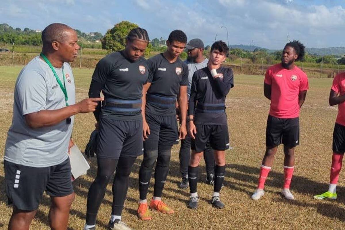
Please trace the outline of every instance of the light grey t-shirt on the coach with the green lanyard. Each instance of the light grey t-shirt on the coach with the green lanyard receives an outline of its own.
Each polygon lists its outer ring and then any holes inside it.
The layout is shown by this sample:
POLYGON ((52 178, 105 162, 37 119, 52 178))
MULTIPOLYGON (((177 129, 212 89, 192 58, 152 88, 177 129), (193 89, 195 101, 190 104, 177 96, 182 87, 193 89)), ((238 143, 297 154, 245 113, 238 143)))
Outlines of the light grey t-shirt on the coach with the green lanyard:
MULTIPOLYGON (((68 104, 75 104, 75 85, 72 69, 63 64, 66 77, 68 104)), ((62 68, 55 68, 61 82, 62 68)), ((65 95, 48 64, 39 58, 32 59, 17 78, 14 87, 13 119, 7 133, 4 160, 30 167, 49 167, 68 158, 71 123, 66 120, 38 129, 30 128, 24 115, 41 110, 56 110, 66 106, 65 95)))

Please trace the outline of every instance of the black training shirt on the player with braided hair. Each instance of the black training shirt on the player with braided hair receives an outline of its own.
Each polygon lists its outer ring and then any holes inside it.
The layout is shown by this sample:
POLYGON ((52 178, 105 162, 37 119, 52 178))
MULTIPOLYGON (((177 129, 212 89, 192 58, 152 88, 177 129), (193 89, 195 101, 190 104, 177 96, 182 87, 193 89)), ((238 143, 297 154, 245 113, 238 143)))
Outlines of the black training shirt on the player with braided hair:
MULTIPOLYGON (((141 57, 137 61, 131 61, 125 58, 123 51, 111 53, 97 63, 92 79, 103 84, 105 100, 141 99, 142 86, 148 79, 146 59, 141 57)), ((142 119, 141 111, 114 112, 102 109, 102 115, 121 120, 142 119)))

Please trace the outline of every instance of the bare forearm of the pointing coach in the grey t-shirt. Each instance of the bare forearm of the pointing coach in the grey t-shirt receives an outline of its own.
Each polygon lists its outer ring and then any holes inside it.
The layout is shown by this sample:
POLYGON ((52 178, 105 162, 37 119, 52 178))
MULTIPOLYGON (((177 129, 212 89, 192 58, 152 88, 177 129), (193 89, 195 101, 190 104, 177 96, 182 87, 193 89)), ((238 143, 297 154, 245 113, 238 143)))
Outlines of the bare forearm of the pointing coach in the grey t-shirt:
POLYGON ((28 126, 32 129, 54 126, 63 120, 80 112, 78 104, 63 107, 56 110, 41 110, 25 115, 28 126))

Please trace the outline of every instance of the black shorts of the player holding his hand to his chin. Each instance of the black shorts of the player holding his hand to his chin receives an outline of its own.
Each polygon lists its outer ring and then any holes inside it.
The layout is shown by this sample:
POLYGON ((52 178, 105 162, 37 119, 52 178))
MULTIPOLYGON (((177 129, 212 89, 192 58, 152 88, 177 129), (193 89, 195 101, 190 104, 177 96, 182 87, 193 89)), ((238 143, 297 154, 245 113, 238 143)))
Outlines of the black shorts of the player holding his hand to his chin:
POLYGON ((191 149, 202 152, 206 148, 209 141, 210 146, 214 150, 224 151, 230 147, 229 131, 227 124, 207 125, 195 124, 195 139, 191 139, 191 149))

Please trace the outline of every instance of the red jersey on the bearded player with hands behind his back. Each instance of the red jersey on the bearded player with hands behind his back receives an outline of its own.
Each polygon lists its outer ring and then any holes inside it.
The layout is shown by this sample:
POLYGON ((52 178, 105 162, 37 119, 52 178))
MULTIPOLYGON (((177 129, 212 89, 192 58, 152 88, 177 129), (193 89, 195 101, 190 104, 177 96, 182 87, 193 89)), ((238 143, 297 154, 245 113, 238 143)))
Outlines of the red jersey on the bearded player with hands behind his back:
POLYGON ((265 84, 271 86, 269 115, 277 118, 299 117, 298 94, 309 89, 305 72, 295 66, 292 70, 275 64, 266 71, 265 84))

